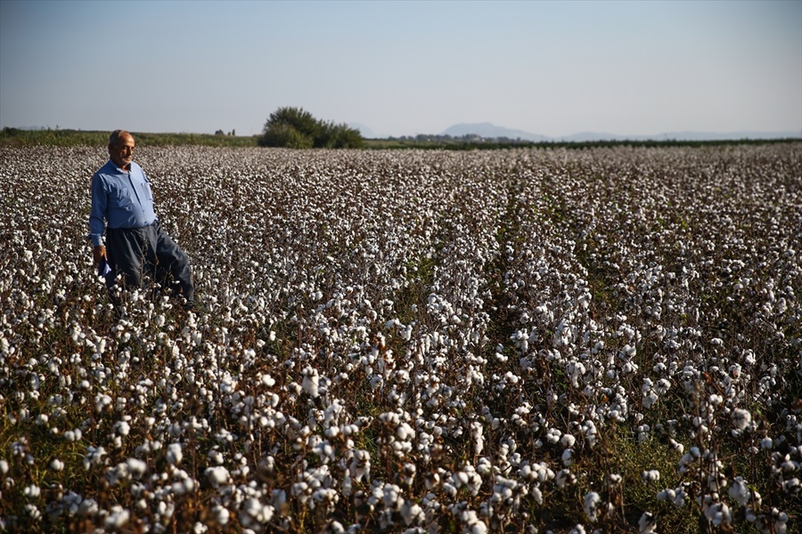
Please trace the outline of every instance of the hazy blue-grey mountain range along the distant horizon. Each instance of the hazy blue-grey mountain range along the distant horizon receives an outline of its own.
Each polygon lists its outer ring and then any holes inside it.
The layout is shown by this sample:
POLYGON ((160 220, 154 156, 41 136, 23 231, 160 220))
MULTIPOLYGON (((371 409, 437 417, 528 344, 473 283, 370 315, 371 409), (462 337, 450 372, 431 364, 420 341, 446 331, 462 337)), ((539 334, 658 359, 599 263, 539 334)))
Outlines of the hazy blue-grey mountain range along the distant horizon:
MULTIPOLYGON (((366 139, 383 139, 388 135, 377 135, 365 125, 353 123, 349 125, 356 128, 366 139)), ((579 132, 562 137, 549 137, 541 134, 532 134, 523 130, 513 130, 490 123, 453 125, 440 134, 462 137, 463 135, 479 135, 487 139, 506 137, 508 139, 522 139, 532 142, 585 142, 585 141, 726 141, 741 139, 790 139, 802 138, 802 130, 797 132, 665 132, 662 134, 619 135, 606 132, 579 132)))

